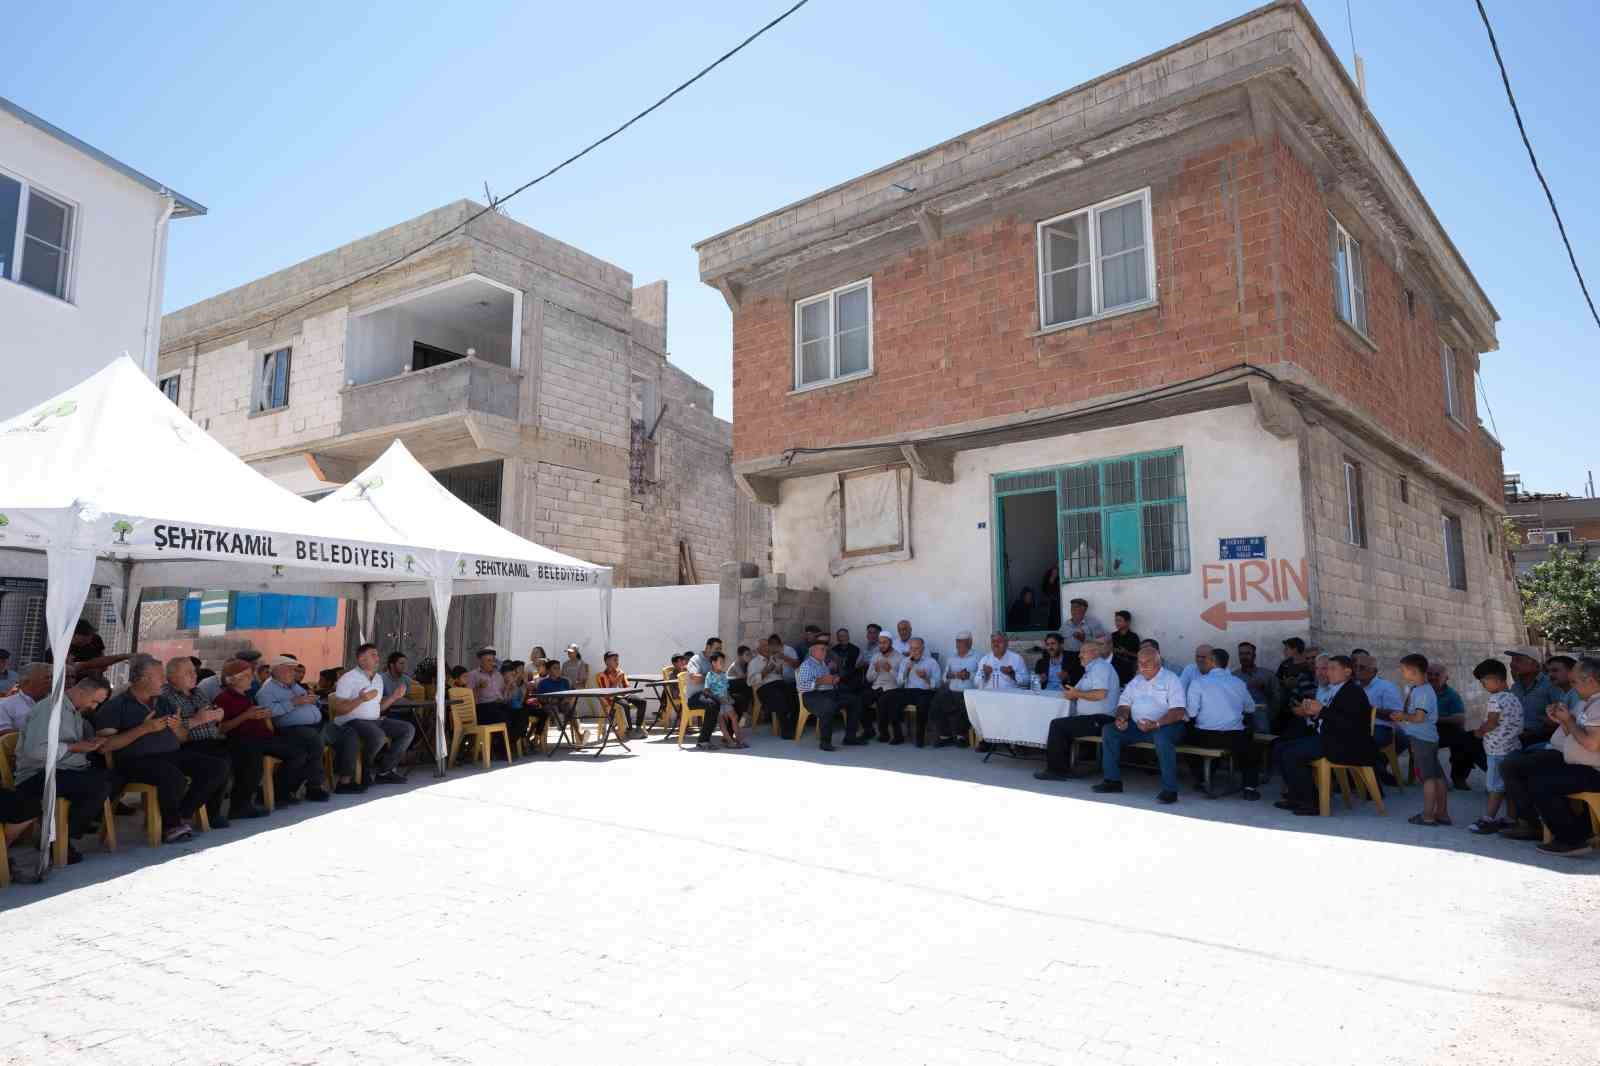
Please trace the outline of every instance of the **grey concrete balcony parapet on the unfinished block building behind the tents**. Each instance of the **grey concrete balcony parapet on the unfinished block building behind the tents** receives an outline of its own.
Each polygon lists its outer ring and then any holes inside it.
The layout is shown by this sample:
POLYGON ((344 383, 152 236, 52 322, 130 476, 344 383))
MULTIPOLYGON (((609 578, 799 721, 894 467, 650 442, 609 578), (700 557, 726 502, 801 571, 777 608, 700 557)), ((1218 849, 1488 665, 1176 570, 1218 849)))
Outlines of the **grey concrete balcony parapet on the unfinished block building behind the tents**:
POLYGON ((480 359, 456 359, 395 378, 347 386, 341 435, 365 434, 443 416, 517 418, 522 373, 480 359))

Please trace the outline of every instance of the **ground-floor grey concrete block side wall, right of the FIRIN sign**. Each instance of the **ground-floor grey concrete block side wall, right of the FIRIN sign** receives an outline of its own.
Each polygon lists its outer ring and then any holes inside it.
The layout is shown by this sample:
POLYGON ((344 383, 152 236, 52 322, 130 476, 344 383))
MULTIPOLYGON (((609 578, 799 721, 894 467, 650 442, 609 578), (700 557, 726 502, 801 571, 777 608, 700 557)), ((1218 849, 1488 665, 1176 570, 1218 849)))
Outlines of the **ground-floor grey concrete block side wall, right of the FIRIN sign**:
POLYGON ((1462 696, 1482 704, 1472 666, 1522 643, 1522 613, 1506 578, 1499 519, 1464 503, 1414 464, 1365 447, 1328 426, 1306 432, 1306 493, 1315 597, 1312 642, 1328 653, 1362 647, 1382 672, 1398 677, 1398 658, 1419 651, 1443 661, 1462 696), (1347 543, 1344 463, 1362 464, 1366 547, 1347 543), (1400 479, 1406 499, 1400 498, 1400 479), (1467 587, 1445 571, 1443 512, 1462 525, 1467 587), (1491 554, 1485 533, 1494 533, 1491 554))

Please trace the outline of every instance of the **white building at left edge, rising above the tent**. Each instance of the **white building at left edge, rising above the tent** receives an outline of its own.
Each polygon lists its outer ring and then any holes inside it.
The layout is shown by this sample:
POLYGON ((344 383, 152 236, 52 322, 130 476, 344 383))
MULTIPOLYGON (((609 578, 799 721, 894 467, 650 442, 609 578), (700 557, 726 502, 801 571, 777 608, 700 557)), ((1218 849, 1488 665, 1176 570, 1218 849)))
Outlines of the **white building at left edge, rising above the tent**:
POLYGON ((0 418, 128 352, 155 376, 166 222, 205 214, 0 96, 0 418))

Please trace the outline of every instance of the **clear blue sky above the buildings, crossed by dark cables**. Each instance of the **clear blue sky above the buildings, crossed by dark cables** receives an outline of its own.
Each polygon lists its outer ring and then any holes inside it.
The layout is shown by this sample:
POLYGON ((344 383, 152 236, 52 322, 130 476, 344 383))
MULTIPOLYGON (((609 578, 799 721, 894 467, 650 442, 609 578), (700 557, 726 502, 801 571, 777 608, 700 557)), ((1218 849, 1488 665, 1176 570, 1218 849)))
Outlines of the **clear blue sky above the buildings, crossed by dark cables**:
MULTIPOLYGON (((0 64, 0 94, 210 206, 173 226, 171 309, 458 197, 482 198, 485 181, 506 192, 782 6, 18 0, 8 37, 27 46, 0 64)), ((1309 6, 1349 62, 1344 0, 1309 6)), ((1485 357, 1483 384, 1506 466, 1530 487, 1579 491, 1600 455, 1574 386, 1594 381, 1600 328, 1517 141, 1477 13, 1470 0, 1350 6, 1371 107, 1501 312, 1501 351, 1485 357)), ((1589 110, 1600 5, 1488 6, 1600 296, 1589 110)), ((635 283, 667 279, 672 359, 710 383, 726 416, 730 315, 699 283, 693 242, 1246 8, 811 0, 509 211, 635 283)))

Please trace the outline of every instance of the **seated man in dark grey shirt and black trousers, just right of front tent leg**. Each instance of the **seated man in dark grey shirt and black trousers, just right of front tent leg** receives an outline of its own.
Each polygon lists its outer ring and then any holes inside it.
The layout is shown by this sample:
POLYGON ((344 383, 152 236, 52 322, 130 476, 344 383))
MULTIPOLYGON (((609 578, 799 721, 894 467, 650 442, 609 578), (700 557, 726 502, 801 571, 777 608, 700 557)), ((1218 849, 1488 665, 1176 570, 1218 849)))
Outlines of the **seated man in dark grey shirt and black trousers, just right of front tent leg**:
POLYGON ((117 779, 155 786, 163 839, 174 844, 194 832, 189 820, 221 791, 229 765, 226 759, 182 749, 189 730, 178 709, 162 698, 165 680, 157 659, 134 655, 128 687, 102 703, 93 722, 106 741, 101 752, 115 752, 117 779))

